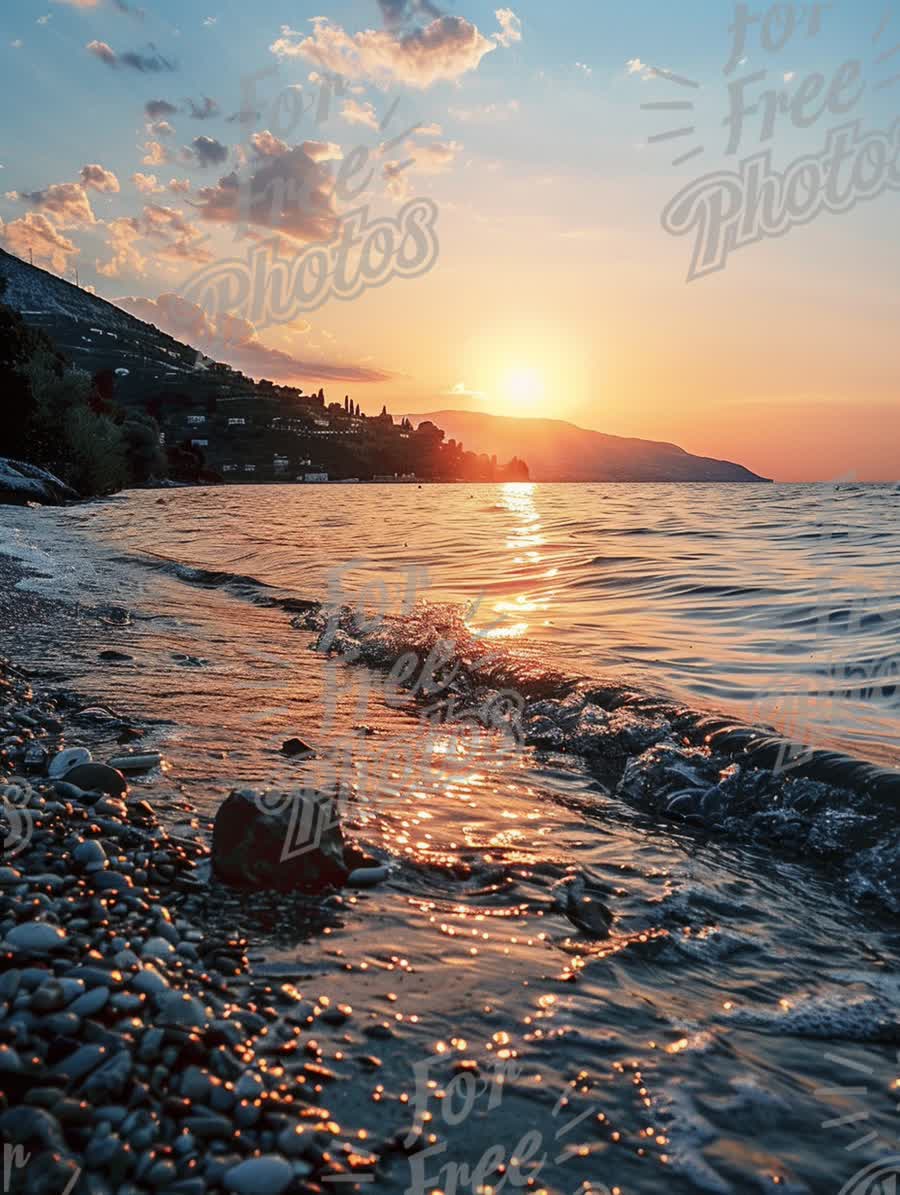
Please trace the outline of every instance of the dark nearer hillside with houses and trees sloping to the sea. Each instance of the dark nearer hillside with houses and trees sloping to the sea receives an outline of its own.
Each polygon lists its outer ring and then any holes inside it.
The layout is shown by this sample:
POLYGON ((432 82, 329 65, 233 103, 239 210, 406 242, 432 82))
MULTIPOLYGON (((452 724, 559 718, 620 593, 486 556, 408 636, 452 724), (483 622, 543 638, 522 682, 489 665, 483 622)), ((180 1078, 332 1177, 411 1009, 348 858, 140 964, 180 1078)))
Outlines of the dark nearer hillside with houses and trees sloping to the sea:
MULTIPOLYGON (((386 407, 380 415, 366 415, 349 394, 343 402, 329 402, 323 387, 305 393, 299 386, 253 380, 115 304, 2 251, 0 277, 5 283, 0 308, 10 308, 25 325, 39 329, 71 364, 80 367, 65 375, 65 400, 57 394, 60 379, 39 374, 38 403, 31 388, 35 382, 22 381, 18 366, 23 362, 14 355, 26 343, 16 332, 18 318, 7 320, 14 353, 6 362, 5 386, 17 393, 14 399, 7 396, 0 454, 50 468, 66 482, 78 477, 80 494, 109 492, 129 480, 146 480, 130 465, 118 467, 125 434, 130 456, 145 460, 152 449, 159 458, 164 451, 165 460, 154 461, 147 476, 159 477, 161 467, 177 480, 502 482, 528 477, 525 461, 498 462, 469 452, 461 443, 445 442, 443 433, 430 423, 412 428, 394 422, 386 407), (53 403, 62 405, 57 410, 53 403), (55 413, 48 416, 51 409, 55 413), (114 446, 109 452, 100 443, 102 433, 114 446), (148 435, 151 442, 143 443, 148 435), (100 467, 111 464, 116 467, 100 467)), ((19 479, 17 492, 22 486, 19 479)))

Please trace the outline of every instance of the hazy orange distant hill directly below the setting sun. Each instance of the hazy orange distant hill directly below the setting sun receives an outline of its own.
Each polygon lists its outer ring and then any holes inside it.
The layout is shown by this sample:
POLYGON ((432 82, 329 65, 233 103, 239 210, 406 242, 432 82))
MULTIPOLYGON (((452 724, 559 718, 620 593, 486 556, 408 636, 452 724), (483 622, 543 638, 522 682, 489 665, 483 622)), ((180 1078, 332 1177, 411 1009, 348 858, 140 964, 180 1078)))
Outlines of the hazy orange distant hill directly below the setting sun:
POLYGON ((534 482, 766 482, 742 465, 693 456, 676 445, 589 431, 562 419, 433 411, 430 419, 475 452, 528 461, 534 482))

